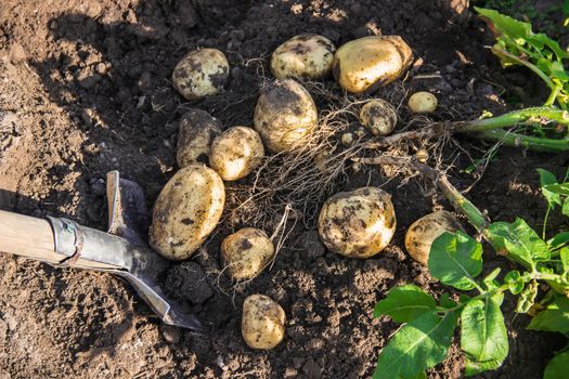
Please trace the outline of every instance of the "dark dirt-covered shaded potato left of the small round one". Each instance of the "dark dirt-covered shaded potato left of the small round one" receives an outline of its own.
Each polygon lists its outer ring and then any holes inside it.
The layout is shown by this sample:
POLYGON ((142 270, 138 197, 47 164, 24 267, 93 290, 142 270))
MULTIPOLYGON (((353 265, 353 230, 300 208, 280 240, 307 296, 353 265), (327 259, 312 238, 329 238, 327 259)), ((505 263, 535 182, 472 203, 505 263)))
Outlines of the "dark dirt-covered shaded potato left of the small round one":
POLYGON ((180 120, 176 159, 178 167, 207 164, 214 139, 223 129, 221 122, 202 109, 190 109, 180 120))

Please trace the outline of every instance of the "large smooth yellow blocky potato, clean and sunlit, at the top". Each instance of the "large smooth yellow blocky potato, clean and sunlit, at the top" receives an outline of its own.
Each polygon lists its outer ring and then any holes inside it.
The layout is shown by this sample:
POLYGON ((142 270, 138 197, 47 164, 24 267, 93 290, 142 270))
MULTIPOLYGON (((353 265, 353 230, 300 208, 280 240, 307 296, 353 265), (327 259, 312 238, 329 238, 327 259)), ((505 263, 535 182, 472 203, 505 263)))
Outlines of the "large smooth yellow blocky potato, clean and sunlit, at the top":
POLYGON ((342 44, 332 73, 351 93, 371 92, 399 78, 413 62, 411 48, 399 36, 370 36, 342 44))

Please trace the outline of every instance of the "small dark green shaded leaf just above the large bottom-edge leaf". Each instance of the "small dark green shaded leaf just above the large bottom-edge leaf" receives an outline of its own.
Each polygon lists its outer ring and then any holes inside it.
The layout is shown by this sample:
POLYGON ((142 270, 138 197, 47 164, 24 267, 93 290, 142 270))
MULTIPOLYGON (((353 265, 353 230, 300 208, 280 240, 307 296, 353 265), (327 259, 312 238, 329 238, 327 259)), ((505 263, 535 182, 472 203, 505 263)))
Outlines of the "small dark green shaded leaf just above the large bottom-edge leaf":
POLYGON ((409 323, 418 315, 432 311, 435 299, 415 285, 409 284, 391 289, 374 308, 374 317, 383 314, 398 323, 409 323))

